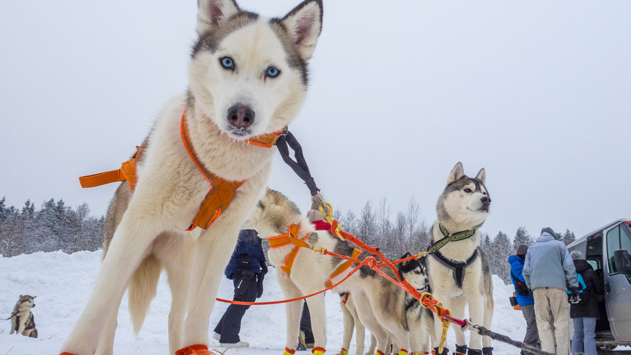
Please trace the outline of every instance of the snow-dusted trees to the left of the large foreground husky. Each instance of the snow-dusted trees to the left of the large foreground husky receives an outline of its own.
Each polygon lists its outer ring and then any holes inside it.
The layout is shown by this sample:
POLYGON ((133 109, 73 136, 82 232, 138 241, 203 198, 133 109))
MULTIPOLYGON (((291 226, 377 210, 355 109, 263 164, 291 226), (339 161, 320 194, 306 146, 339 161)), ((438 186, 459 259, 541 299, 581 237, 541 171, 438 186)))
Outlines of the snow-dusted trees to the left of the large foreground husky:
POLYGON ((40 209, 30 200, 20 209, 0 200, 0 255, 11 257, 36 251, 94 251, 101 248, 103 217, 90 215, 87 203, 72 208, 50 199, 40 209))

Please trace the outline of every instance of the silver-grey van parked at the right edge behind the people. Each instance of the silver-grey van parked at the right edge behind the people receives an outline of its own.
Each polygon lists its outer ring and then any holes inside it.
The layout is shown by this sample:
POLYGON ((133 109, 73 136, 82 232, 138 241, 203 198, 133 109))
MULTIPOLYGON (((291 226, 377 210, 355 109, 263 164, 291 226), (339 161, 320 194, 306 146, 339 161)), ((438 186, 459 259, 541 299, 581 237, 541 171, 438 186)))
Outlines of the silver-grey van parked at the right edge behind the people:
POLYGON ((631 346, 631 219, 618 219, 567 246, 581 251, 602 278, 596 346, 631 346))

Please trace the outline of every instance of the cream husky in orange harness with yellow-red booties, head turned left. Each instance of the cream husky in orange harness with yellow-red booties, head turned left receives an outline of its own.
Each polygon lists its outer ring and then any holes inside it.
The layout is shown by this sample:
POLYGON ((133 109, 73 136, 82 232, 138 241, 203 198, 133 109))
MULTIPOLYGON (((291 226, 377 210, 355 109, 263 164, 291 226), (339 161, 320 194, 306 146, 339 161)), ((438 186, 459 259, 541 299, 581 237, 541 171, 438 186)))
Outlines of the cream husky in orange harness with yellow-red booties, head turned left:
MULTIPOLYGON (((346 241, 341 241, 329 231, 315 231, 309 220, 300 215, 296 205, 277 191, 268 190, 265 196, 257 204, 250 219, 244 228, 256 229, 261 238, 272 238, 286 234, 287 227, 297 224, 300 227, 297 238, 303 239, 319 248, 333 251, 339 255, 353 255, 353 247, 346 241)), ((290 274, 283 271, 287 256, 295 248, 293 244, 287 244, 268 251, 269 262, 276 268, 278 282, 288 299, 299 298, 307 294, 321 291, 331 274, 345 260, 329 255, 320 255, 307 248, 300 248, 295 255, 290 274)), ((416 268, 410 268, 403 273, 404 277, 410 277, 410 283, 425 285, 426 276, 416 282, 416 268)), ((330 280, 335 284, 346 277, 351 271, 348 268, 341 274, 330 280)), ((391 270, 384 268, 384 272, 392 278, 396 275, 391 270)), ((420 288, 420 287, 419 287, 420 288)), ((377 339, 377 351, 386 353, 388 335, 401 349, 410 349, 410 334, 408 333, 408 321, 406 318, 406 292, 377 274, 369 267, 362 267, 351 275, 343 284, 335 287, 334 292, 350 292, 353 296, 355 308, 361 323, 375 335, 377 339)), ((409 300, 408 300, 409 301, 409 300)), ((326 316, 324 310, 324 294, 307 298, 311 314, 311 325, 314 332, 314 349, 326 347, 326 316)), ((285 304, 287 317, 287 343, 286 348, 291 354, 298 338, 298 328, 302 303, 294 301, 285 304)), ((407 351, 407 350, 406 350, 407 351)), ((389 353, 389 349, 388 349, 389 353)))

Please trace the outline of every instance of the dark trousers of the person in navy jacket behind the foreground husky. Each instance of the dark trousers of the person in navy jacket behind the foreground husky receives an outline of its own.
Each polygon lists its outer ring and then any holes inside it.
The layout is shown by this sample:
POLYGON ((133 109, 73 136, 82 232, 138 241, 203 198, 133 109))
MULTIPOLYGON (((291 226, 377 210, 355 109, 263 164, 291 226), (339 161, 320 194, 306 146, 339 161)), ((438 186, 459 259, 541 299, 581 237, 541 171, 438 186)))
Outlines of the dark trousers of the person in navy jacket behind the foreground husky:
MULTIPOLYGON (((235 274, 232 276, 235 286, 235 296, 233 301, 240 302, 254 302, 256 301, 256 274, 253 276, 244 276, 241 274, 235 274)), ((250 306, 243 304, 230 304, 226 313, 223 313, 221 320, 215 327, 215 333, 221 335, 219 340, 222 343, 237 343, 239 339, 239 332, 241 330, 241 318, 245 314, 245 310, 250 306)))

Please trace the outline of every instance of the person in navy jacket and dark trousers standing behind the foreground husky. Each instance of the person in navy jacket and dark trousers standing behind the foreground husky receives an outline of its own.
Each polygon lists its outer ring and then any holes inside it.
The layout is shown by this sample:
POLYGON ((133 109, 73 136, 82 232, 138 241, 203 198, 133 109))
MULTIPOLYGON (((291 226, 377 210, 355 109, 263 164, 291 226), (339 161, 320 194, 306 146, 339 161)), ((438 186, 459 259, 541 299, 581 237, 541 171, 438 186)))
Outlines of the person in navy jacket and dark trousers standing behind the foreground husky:
MULTIPOLYGON (((239 232, 237 248, 235 248, 228 267, 226 277, 234 282, 235 296, 233 301, 254 302, 263 294, 263 279, 268 273, 261 239, 254 229, 243 229, 239 232)), ((217 326, 213 338, 219 340, 221 347, 248 347, 250 344, 241 341, 241 318, 250 306, 230 304, 217 326)))

